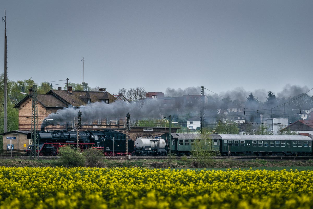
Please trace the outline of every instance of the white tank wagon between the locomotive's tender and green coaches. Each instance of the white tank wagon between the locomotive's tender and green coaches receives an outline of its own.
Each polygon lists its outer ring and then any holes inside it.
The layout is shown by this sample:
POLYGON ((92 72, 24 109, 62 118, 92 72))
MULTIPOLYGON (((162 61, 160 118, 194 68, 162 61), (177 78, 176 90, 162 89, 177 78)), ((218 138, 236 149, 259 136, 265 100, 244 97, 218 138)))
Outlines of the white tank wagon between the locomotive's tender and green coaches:
POLYGON ((162 138, 137 138, 135 154, 139 156, 165 156, 167 151, 165 140, 162 138))

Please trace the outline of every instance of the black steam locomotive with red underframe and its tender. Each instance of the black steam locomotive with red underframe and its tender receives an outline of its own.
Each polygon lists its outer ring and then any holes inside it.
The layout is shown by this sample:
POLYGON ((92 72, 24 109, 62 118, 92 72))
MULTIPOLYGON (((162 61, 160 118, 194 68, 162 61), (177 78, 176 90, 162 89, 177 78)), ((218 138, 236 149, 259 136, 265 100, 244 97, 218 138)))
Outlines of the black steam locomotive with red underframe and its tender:
MULTIPOLYGON (((103 150, 105 156, 125 156, 134 152, 134 141, 128 139, 128 153, 126 153, 125 134, 111 129, 102 131, 80 131, 80 150, 94 147, 103 150)), ((27 135, 31 139, 31 133, 27 135)), ((51 132, 40 131, 38 133, 39 144, 36 144, 36 152, 39 156, 57 155, 59 147, 66 145, 77 146, 77 132, 67 130, 54 130, 51 132)), ((34 145, 28 145, 28 154, 34 150, 34 145)))

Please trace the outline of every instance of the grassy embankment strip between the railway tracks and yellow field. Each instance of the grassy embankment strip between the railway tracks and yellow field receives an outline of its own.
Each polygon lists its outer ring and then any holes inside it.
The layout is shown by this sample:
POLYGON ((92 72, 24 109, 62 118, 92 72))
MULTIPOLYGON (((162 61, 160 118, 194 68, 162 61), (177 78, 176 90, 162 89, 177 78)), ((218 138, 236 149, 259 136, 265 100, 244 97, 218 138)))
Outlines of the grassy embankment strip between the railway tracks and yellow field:
MULTIPOLYGON (((3 159, 0 160, 0 166, 5 167, 57 167, 62 166, 59 160, 26 160, 26 159, 3 159)), ((101 167, 147 167, 147 168, 208 168, 215 170, 226 170, 228 168, 266 169, 266 170, 313 170, 312 160, 287 160, 287 161, 266 161, 262 159, 242 161, 231 159, 208 159, 200 162, 191 159, 181 160, 107 160, 102 159, 101 167)))

